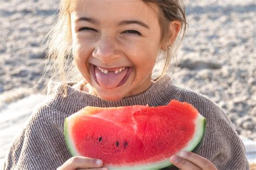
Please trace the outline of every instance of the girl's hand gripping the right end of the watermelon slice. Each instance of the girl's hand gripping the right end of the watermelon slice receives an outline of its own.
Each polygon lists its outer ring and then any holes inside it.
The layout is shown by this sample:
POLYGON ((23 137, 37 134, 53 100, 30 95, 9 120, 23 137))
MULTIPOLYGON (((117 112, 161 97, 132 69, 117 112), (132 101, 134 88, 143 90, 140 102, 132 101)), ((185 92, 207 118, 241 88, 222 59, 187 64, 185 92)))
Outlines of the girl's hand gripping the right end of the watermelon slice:
POLYGON ((180 157, 173 155, 170 161, 178 168, 184 170, 218 170, 211 161, 192 152, 181 152, 180 157))

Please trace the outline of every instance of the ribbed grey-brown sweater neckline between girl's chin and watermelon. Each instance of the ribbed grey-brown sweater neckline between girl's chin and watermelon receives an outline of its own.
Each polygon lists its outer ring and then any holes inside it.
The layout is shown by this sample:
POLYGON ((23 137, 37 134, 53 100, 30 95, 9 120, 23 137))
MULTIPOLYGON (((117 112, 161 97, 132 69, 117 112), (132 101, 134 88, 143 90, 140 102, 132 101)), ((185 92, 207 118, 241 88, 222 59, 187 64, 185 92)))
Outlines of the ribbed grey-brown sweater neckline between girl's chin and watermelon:
POLYGON ((76 83, 67 83, 67 96, 64 97, 65 84, 50 81, 48 85, 48 104, 62 112, 77 112, 85 106, 117 107, 129 105, 158 106, 169 103, 171 96, 176 93, 171 78, 164 76, 154 82, 149 89, 136 96, 126 97, 118 101, 106 101, 98 96, 80 91, 72 87, 76 83))

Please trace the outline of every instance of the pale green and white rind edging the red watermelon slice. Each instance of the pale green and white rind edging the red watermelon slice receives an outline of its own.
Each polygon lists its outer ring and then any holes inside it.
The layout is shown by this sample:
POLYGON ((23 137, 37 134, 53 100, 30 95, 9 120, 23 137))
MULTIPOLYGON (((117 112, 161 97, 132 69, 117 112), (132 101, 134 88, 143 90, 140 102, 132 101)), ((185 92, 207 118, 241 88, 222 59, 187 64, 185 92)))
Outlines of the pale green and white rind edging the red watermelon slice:
MULTIPOLYGON (((72 125, 68 126, 68 119, 66 118, 64 122, 64 136, 65 136, 65 141, 68 146, 68 149, 70 151, 70 154, 72 156, 80 156, 79 152, 76 150, 75 146, 73 145, 72 142, 72 136, 69 135, 69 130, 68 127, 71 128, 72 125)), ((196 119, 196 133, 194 134, 194 137, 192 138, 192 141, 188 142, 188 145, 183 148, 181 151, 191 151, 194 153, 198 153, 201 144, 203 143, 204 136, 205 136, 205 131, 206 131, 206 119, 201 115, 198 114, 198 117, 196 119)), ((181 152, 180 151, 180 152, 181 152)), ((180 153, 179 152, 179 153, 180 153)), ((179 155, 177 153, 177 155, 179 155)), ((135 164, 134 164, 135 165, 135 164)), ((173 167, 174 165, 171 164, 170 158, 167 158, 163 161, 159 162, 154 162, 152 164, 146 164, 146 165, 136 165, 136 166, 106 166, 109 170, 128 170, 128 169, 133 169, 133 170, 158 170, 158 169, 169 169, 170 167, 173 167)))

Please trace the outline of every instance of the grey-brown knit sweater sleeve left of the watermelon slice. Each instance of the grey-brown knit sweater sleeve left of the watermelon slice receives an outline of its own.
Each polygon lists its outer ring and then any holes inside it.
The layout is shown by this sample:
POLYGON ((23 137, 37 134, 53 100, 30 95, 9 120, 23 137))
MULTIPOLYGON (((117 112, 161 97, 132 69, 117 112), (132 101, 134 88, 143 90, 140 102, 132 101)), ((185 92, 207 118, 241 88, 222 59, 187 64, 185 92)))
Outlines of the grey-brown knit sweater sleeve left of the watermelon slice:
POLYGON ((41 108, 32 114, 10 147, 3 169, 56 169, 70 158, 63 128, 55 124, 56 119, 49 121, 49 114, 58 117, 61 113, 41 108))

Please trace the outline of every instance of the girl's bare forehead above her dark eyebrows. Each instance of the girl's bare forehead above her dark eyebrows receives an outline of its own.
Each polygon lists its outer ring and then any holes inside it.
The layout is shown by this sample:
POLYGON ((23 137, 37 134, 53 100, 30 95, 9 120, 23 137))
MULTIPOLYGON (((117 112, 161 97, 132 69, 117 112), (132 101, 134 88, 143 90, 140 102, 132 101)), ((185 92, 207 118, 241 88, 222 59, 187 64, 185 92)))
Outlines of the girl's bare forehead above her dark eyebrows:
POLYGON ((117 22, 122 19, 141 19, 152 23, 158 20, 156 6, 140 0, 78 0, 71 1, 71 17, 93 17, 100 22, 117 22))

